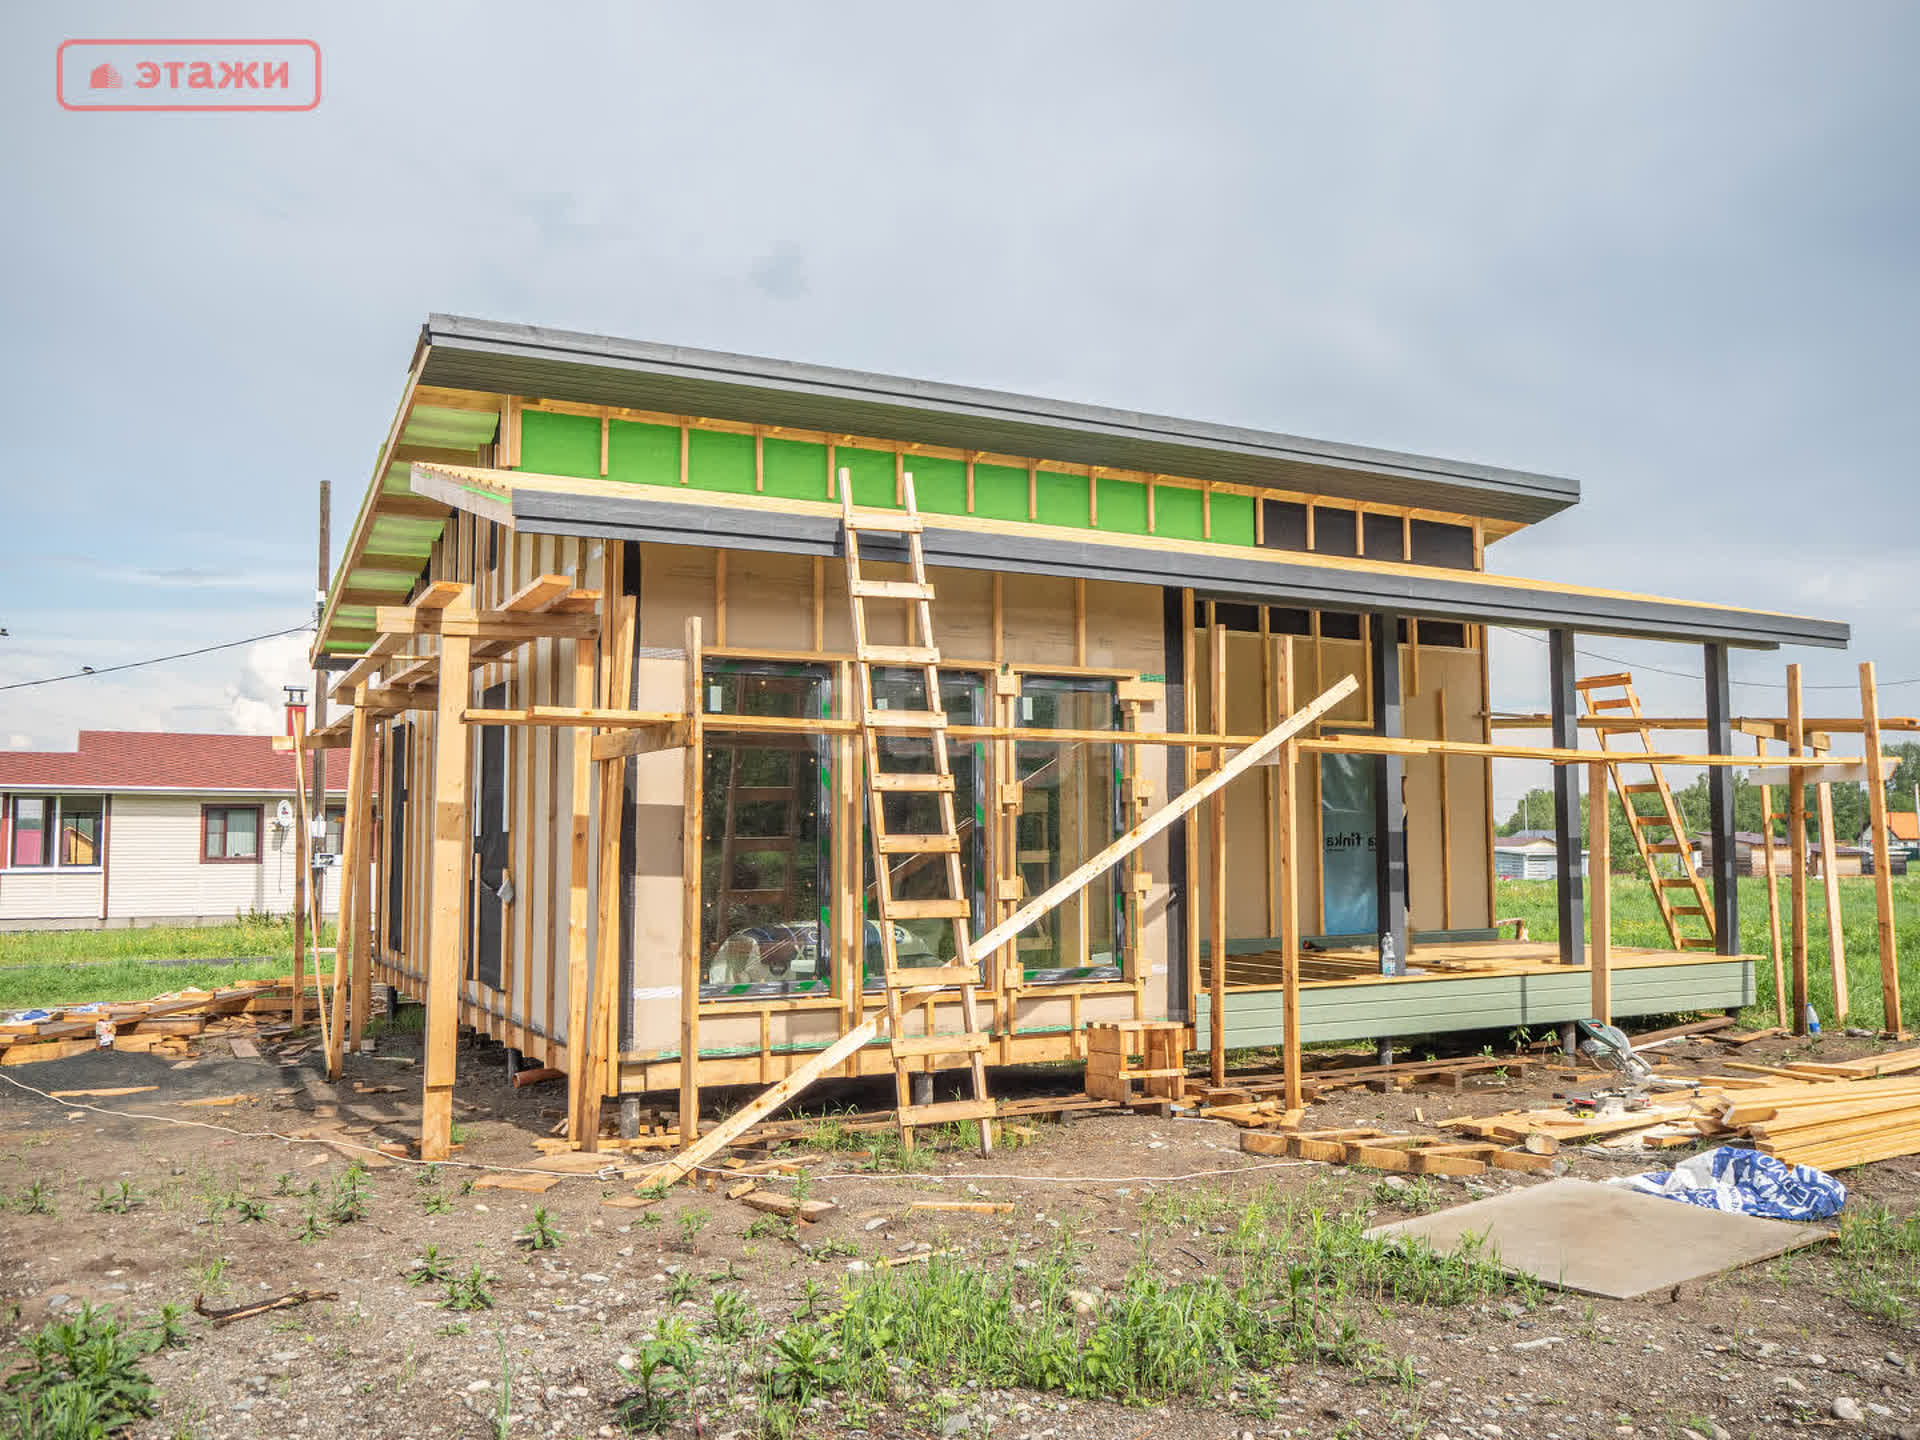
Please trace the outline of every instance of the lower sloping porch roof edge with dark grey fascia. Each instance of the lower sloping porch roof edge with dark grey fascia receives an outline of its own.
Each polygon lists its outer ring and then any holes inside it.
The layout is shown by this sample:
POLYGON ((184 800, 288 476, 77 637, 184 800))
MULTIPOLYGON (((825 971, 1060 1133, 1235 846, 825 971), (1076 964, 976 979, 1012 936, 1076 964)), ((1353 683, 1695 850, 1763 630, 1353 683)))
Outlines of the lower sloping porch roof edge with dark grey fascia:
MULTIPOLYGON (((618 480, 444 465, 415 465, 411 484, 417 493, 524 534, 787 555, 841 553, 841 515, 831 503, 776 501, 768 495, 732 499, 710 492, 691 501, 682 499, 678 490, 618 480)), ((935 513, 922 513, 922 524, 927 561, 968 570, 1179 586, 1221 599, 1298 609, 1386 611, 1473 624, 1565 628, 1753 649, 1843 647, 1849 639, 1849 628, 1837 620, 1555 586, 1519 576, 1154 538, 1066 538, 1044 524, 983 522, 935 513)), ((862 551, 877 561, 904 559, 904 545, 895 557, 881 541, 881 536, 864 540, 862 551)))

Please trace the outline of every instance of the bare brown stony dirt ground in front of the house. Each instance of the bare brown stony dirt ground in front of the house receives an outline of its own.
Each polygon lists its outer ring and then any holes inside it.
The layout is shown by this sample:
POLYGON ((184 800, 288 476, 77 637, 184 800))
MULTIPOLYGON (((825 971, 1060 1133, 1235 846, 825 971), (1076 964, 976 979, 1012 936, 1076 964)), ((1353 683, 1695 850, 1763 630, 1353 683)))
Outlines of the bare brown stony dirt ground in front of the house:
MULTIPOLYGON (((1740 1058, 1776 1058, 1784 1046, 1763 1041, 1740 1058)), ((1068 1229, 1092 1242, 1081 1261, 1083 1284, 1100 1292, 1116 1288, 1137 1260, 1142 1225, 1156 1215, 1164 1223, 1167 1215, 1219 1213, 1208 1210, 1213 1196, 1242 1202, 1275 1187, 1329 1210, 1398 1219, 1415 1208, 1538 1183, 1496 1171, 1405 1187, 1377 1173, 1242 1154, 1238 1131, 1223 1121, 1091 1114, 1037 1123, 1031 1144, 991 1158, 945 1150, 925 1173, 870 1173, 851 1156, 816 1154, 806 1188, 835 1210, 803 1227, 797 1240, 768 1235, 764 1225, 749 1236, 760 1219, 755 1210, 687 1187, 645 1212, 603 1204, 632 1196, 632 1183, 618 1179, 568 1177, 541 1196, 468 1190, 465 1183, 486 1171, 467 1165, 518 1167, 536 1158, 530 1140, 551 1129, 564 1087, 515 1091, 499 1050, 467 1046, 459 1164, 442 1167, 434 1181, 411 1162, 376 1167, 365 1217, 303 1240, 300 1229, 315 1204, 305 1188, 334 1185, 348 1158, 265 1131, 334 1125, 365 1142, 411 1135, 419 1068, 407 1062, 419 1054, 419 1037, 382 1037, 374 1054, 351 1056, 344 1081, 332 1087, 311 1054, 278 1064, 271 1052, 236 1060, 217 1054, 225 1048, 217 1043, 204 1048, 186 1069, 100 1052, 0 1071, 38 1091, 157 1087, 77 1102, 96 1106, 83 1110, 0 1083, 0 1194, 17 1200, 40 1181, 56 1212, 25 1213, 17 1202, 0 1210, 0 1317, 8 1321, 0 1340, 8 1350, 83 1302, 146 1315, 163 1302, 192 1306, 196 1296, 227 1308, 300 1286, 338 1290, 334 1302, 225 1329, 188 1317, 190 1342, 148 1361, 159 1415, 134 1430, 142 1436, 612 1436, 620 1432, 614 1404, 634 1388, 618 1357, 632 1356, 670 1313, 710 1332, 720 1290, 747 1296, 760 1323, 783 1325, 822 1290, 883 1258, 935 1248, 998 1265, 1008 1252, 1035 1252, 1068 1229), (357 1089, 392 1085, 399 1089, 357 1089), (179 1104, 223 1094, 250 1098, 230 1108, 179 1104), (125 1213, 96 1208, 102 1192, 111 1200, 123 1181, 132 1200, 125 1213), (252 1196, 265 1217, 236 1219, 219 1196, 252 1196), (1016 1210, 910 1212, 914 1198, 1006 1200, 1016 1210), (555 1250, 515 1242, 536 1206, 545 1206, 566 1236, 555 1250), (459 1271, 478 1263, 495 1275, 493 1308, 455 1313, 442 1308, 440 1284, 409 1284, 403 1269, 428 1246, 459 1271)), ((1834 1037, 1812 1052, 1847 1058, 1868 1048, 1834 1037)), ((1674 1073, 1713 1069, 1728 1058, 1707 1043, 1668 1050, 1674 1073)), ((1058 1081, 1077 1085, 1071 1075, 1058 1081)), ((1486 1077, 1463 1091, 1346 1092, 1315 1106, 1309 1123, 1430 1129, 1446 1116, 1548 1102, 1567 1085, 1565 1075, 1540 1075, 1526 1083, 1486 1077)), ((822 1098, 879 1106, 885 1091, 843 1087, 814 1102, 822 1098)), ((795 1154, 808 1152, 801 1146, 795 1154)), ((1672 1158, 1582 1150, 1571 1154, 1569 1173, 1603 1179, 1672 1158)), ((1920 1162, 1885 1162, 1845 1181, 1857 1200, 1908 1215, 1920 1196, 1920 1162)), ((1187 1229, 1177 1227, 1156 1252, 1160 1261, 1169 1273, 1208 1273, 1221 1261, 1223 1236, 1204 1221, 1181 1225, 1187 1229)), ((1920 1436, 1920 1336, 1885 1311, 1876 1319, 1849 1304, 1834 1246, 1651 1300, 1546 1290, 1536 1306, 1513 1298, 1371 1306, 1361 1329, 1396 1373, 1300 1365, 1269 1377, 1261 1394, 1236 1388, 1208 1402, 1144 1409, 962 1390, 941 1375, 902 1375, 889 1409, 845 1413, 829 1402, 808 1411, 797 1434, 1920 1436)), ((724 1356, 726 1348, 708 1354, 724 1356)), ((756 1436, 749 1371, 747 1363, 708 1365, 691 1415, 668 1434, 756 1436)))

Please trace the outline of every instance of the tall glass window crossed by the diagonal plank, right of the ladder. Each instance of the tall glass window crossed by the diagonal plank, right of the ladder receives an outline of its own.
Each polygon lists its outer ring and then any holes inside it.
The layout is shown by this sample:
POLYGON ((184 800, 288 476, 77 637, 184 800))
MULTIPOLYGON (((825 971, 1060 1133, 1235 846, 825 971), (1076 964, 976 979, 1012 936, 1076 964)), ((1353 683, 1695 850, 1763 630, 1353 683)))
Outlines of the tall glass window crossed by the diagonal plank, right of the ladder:
MULTIPOLYGON (((1119 730, 1114 682, 1027 678, 1020 726, 1119 730)), ((1102 741, 1014 743, 1014 862, 1027 895, 1039 895, 1119 837, 1117 764, 1119 747, 1102 741)), ((1114 870, 1102 872, 1016 941, 1029 985, 1119 975, 1117 879, 1114 870)))

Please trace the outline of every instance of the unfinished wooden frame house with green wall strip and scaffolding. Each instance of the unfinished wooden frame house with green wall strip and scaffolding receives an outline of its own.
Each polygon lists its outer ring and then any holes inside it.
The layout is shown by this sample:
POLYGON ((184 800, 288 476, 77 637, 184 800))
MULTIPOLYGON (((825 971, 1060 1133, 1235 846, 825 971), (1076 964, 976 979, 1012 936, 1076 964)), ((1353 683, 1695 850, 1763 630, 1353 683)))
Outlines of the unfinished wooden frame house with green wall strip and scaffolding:
MULTIPOLYGON (((991 931, 1348 676, 1267 764, 972 952, 964 996, 914 991, 924 1033, 977 1002, 973 1052, 1018 1066, 1173 1021, 1217 1068, 1283 1037, 1555 1025, 1601 983, 1615 1016, 1745 1004, 1730 874, 1695 883, 1711 899, 1680 908, 1707 924, 1667 950, 1596 927, 1588 964, 1578 883, 1557 945, 1501 935, 1492 758, 1557 762, 1576 874, 1582 776, 1609 778, 1580 730, 1624 724, 1582 722, 1578 632, 1697 647, 1705 716, 1682 724, 1724 776, 1730 647, 1847 628, 1486 568, 1576 499, 1542 474, 436 315, 315 647, 346 714, 311 743, 351 747, 349 1033, 371 983, 426 1000, 428 1156, 457 1027, 564 1069, 589 1146, 607 1100, 659 1091, 691 1137, 703 1087, 772 1085, 868 1021, 897 1033, 893 968, 956 962, 937 899, 900 918, 948 854, 991 931), (870 605, 854 636, 856 524, 856 591, 920 593, 924 566, 931 659, 910 614, 870 605), (1496 743, 1490 624, 1548 636, 1549 747, 1496 743), (931 708, 935 737, 881 724, 931 708), (866 810, 881 756, 950 774, 954 801, 950 843, 881 856, 893 910, 866 810)), ((885 1035, 843 1048, 835 1073, 902 1064, 885 1035)))

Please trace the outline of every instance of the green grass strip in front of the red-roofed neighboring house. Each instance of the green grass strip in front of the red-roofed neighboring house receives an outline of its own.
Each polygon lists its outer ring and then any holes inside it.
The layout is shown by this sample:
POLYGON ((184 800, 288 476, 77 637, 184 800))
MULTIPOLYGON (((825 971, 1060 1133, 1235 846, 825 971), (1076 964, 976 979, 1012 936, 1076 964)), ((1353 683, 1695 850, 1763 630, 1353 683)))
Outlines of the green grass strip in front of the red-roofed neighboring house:
MULTIPOLYGON (((332 925, 321 933, 332 945, 332 925)), ((148 1000, 294 972, 288 920, 140 929, 0 931, 0 1012, 83 1000, 148 1000)))

